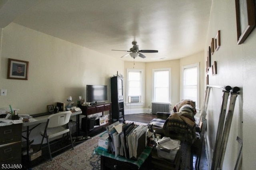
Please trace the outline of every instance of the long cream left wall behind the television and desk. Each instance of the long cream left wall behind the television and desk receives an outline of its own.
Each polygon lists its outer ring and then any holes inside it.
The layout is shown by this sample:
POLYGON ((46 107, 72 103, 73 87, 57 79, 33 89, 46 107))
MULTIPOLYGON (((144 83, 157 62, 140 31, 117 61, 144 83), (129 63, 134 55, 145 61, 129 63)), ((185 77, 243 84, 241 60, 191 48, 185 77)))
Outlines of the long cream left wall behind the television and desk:
POLYGON ((72 96, 86 99, 86 85, 108 85, 110 76, 123 74, 124 61, 11 23, 2 29, 0 108, 20 109, 20 114, 47 112, 47 105, 72 96), (28 80, 7 79, 8 58, 29 61, 28 80))

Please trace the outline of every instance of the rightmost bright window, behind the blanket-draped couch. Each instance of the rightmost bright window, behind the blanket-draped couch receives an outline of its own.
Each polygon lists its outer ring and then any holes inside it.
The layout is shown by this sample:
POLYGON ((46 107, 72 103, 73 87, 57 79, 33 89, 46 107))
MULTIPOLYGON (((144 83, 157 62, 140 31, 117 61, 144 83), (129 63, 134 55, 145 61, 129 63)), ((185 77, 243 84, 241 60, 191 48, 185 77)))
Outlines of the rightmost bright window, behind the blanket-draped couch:
POLYGON ((181 99, 191 99, 199 107, 199 63, 182 67, 181 99))

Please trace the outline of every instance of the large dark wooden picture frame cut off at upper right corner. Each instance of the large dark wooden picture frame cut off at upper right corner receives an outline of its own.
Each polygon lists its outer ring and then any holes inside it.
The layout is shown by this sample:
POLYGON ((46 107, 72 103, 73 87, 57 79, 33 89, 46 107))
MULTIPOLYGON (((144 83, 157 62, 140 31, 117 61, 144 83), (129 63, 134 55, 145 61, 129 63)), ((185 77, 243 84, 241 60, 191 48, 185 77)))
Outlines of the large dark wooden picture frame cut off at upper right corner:
POLYGON ((255 26, 255 7, 253 0, 235 0, 237 44, 242 44, 255 26))

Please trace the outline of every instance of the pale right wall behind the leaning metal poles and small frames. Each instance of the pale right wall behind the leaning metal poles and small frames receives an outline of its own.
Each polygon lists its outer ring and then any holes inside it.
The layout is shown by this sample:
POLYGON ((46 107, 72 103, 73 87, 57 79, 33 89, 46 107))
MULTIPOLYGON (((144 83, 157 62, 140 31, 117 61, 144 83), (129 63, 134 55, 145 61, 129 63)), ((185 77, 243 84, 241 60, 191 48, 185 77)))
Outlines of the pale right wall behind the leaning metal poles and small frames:
MULTIPOLYGON (((232 119, 228 145, 224 157, 222 169, 234 169, 240 144, 236 141, 239 136, 243 140, 243 164, 242 169, 255 169, 256 140, 254 114, 255 97, 253 89, 256 83, 256 30, 254 30, 242 45, 237 45, 236 34, 236 11, 235 1, 233 0, 213 0, 210 14, 210 22, 205 44, 205 61, 208 46, 211 39, 215 38, 217 31, 220 30, 221 46, 212 55, 212 62, 217 62, 217 75, 209 71, 210 85, 230 85, 240 87, 240 94, 236 99, 236 107, 232 119)), ((208 106, 207 115, 207 147, 211 160, 212 149, 216 130, 218 127, 218 117, 222 92, 214 90, 208 106)))

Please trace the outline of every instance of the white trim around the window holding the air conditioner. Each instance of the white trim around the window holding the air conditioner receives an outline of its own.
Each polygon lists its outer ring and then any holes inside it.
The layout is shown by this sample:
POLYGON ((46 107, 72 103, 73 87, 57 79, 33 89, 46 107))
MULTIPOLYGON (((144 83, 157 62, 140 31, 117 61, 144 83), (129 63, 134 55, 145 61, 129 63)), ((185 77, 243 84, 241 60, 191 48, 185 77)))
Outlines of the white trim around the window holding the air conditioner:
POLYGON ((144 105, 144 70, 143 69, 126 69, 126 106, 144 105), (141 98, 138 103, 128 103, 128 73, 129 71, 141 72, 141 98))

